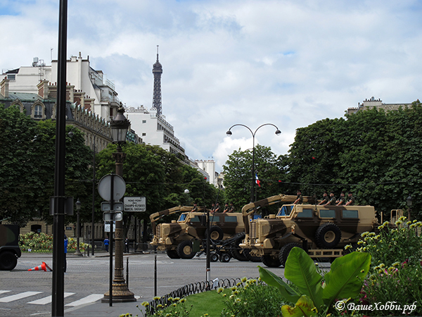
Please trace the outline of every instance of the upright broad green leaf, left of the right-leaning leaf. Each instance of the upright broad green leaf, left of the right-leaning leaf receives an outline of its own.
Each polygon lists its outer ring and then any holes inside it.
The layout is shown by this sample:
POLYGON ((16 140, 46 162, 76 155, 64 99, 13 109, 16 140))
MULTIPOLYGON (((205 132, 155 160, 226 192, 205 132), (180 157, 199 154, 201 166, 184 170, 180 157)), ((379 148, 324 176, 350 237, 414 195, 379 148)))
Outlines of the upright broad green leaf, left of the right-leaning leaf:
POLYGON ((316 272, 314 261, 298 247, 291 249, 286 261, 284 276, 293 282, 303 294, 309 295, 319 309, 324 304, 322 299, 322 277, 316 272))

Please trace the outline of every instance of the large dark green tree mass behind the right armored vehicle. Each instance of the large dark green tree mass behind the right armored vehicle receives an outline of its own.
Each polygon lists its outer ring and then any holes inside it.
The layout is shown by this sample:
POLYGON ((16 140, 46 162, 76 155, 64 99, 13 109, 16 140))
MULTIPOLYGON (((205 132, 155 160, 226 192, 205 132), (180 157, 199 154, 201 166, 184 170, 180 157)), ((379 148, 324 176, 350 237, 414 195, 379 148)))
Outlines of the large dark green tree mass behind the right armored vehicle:
MULTIPOLYGON (((335 197, 352 191, 357 204, 389 215, 392 209, 407 210, 410 194, 411 216, 422 219, 421 137, 419 101, 397 111, 372 108, 319 120, 296 131, 286 156, 256 147, 255 169, 262 180, 256 199, 297 189, 318 198, 324 191, 335 197)), ((239 207, 250 200, 251 165, 250 151, 234 151, 223 167, 227 196, 239 207)))

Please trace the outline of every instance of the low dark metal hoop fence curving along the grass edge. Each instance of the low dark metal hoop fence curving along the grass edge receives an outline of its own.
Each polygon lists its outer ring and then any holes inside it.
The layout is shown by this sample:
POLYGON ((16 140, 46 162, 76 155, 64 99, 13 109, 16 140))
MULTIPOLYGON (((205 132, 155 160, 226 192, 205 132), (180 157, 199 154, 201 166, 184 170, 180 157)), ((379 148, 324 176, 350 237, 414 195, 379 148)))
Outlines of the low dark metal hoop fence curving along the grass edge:
POLYGON ((163 307, 170 306, 170 304, 172 304, 172 301, 169 301, 169 298, 183 298, 192 294, 207 292, 209 290, 217 290, 217 288, 219 287, 232 287, 234 285, 237 285, 239 282, 241 282, 241 278, 224 278, 222 280, 215 279, 210 282, 203 281, 184 285, 183 287, 180 287, 179 289, 174 290, 173 292, 170 292, 169 294, 163 297, 160 297, 160 299, 151 301, 146 307, 146 310, 148 311, 148 313, 154 313, 157 309, 158 304, 161 304, 163 307))

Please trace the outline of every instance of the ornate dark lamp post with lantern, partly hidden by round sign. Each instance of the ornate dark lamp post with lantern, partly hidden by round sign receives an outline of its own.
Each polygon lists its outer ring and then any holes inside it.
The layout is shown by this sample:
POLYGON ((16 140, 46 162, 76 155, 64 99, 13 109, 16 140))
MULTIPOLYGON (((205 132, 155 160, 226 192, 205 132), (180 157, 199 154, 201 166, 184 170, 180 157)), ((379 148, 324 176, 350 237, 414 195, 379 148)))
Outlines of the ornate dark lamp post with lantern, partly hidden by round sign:
MULTIPOLYGON (((117 110, 117 116, 111 121, 111 133, 113 136, 113 143, 117 144, 117 150, 113 153, 115 159, 116 174, 123 176, 123 161, 126 154, 122 151, 122 144, 126 142, 127 130, 130 126, 130 121, 124 116, 124 108, 120 105, 117 110)), ((110 233, 113 233, 113 225, 110 226, 110 233)), ((129 287, 123 276, 123 221, 116 221, 115 229, 115 276, 113 279, 113 294, 112 302, 136 302, 134 293, 129 291, 129 287)), ((106 292, 102 302, 108 303, 110 299, 110 292, 106 292)), ((111 304, 111 303, 110 303, 111 304)))

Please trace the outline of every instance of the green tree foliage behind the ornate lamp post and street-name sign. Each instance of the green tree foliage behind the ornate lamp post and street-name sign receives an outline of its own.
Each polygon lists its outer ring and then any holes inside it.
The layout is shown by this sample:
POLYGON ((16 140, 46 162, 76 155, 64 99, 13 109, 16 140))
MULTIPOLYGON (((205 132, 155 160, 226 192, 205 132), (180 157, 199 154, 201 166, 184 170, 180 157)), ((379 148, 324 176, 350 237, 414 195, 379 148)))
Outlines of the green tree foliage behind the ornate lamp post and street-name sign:
MULTIPOLYGON (((96 156, 98 178, 115 173, 112 156, 115 151, 116 146, 110 144, 96 156)), ((198 206, 210 206, 215 202, 217 189, 174 154, 158 146, 133 143, 125 144, 122 151, 127 154, 123 163, 123 178, 127 184, 125 196, 146 197, 146 212, 133 213, 133 216, 144 220, 144 225, 149 222, 151 213, 179 205, 193 205, 194 201, 198 206), (185 189, 189 190, 189 194, 184 193, 185 189)), ((129 216, 129 213, 124 214, 126 230, 129 216)))

